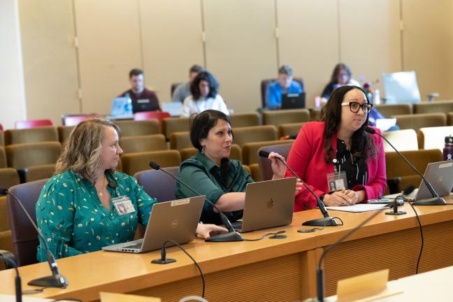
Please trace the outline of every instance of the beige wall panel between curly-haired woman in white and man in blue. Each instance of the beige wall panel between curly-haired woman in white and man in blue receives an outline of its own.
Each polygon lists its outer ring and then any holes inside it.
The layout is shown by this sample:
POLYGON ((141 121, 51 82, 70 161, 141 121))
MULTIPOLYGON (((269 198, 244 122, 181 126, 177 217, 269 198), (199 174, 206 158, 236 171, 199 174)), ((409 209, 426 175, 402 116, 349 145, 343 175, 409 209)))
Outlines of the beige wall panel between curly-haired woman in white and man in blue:
POLYGON ((277 75, 273 0, 203 1, 207 69, 235 113, 261 107, 260 82, 277 75))

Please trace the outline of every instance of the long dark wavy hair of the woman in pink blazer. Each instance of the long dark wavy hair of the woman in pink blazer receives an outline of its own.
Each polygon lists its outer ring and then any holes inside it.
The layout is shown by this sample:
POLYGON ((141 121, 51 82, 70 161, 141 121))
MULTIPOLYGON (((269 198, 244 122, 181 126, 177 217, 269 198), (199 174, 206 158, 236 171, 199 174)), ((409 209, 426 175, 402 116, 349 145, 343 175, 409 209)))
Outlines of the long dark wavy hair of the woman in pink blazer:
MULTIPOLYGON (((332 135, 336 134, 338 129, 340 129, 341 103, 343 103, 343 99, 345 99, 345 94, 353 89, 359 89, 363 92, 366 97, 366 102, 370 103, 364 89, 357 86, 345 85, 333 90, 329 101, 327 101, 326 106, 321 110, 321 121, 326 124, 326 129, 324 130, 326 143, 324 147, 326 150, 325 160, 328 163, 333 159, 334 153, 334 150, 332 149, 332 135)), ((375 145, 373 138, 371 138, 371 134, 368 134, 365 131, 367 126, 368 115, 366 115, 364 124, 352 135, 351 153, 354 157, 354 161, 359 158, 367 159, 368 157, 374 158, 377 156, 377 146, 375 145)))

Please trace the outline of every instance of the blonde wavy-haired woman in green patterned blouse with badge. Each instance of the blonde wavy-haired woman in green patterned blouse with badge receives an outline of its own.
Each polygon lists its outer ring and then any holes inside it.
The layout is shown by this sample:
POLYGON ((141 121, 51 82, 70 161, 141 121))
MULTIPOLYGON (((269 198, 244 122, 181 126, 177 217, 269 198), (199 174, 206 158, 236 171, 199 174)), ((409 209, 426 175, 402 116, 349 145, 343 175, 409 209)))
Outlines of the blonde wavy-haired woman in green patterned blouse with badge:
MULTIPOLYGON (((90 119, 71 132, 57 161, 56 173, 43 187, 36 203, 36 220, 50 250, 64 258, 101 250, 134 239, 137 224, 148 224, 156 199, 135 178, 115 172, 122 150, 118 127, 90 119), (122 196, 122 199, 117 197, 122 196)), ((199 224, 196 233, 226 229, 199 224)), ((43 243, 38 261, 46 261, 43 243)))

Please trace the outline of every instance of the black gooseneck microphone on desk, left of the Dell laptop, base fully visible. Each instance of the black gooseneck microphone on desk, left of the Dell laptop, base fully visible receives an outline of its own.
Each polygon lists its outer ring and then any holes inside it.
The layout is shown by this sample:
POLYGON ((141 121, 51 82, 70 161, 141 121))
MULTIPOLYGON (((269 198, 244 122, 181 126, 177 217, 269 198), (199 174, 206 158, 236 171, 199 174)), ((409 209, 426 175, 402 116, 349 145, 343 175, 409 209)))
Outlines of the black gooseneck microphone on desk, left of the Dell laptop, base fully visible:
POLYGON ((38 227, 36 227, 36 224, 34 223, 33 219, 30 217, 29 213, 25 209, 24 205, 20 201, 20 199, 13 194, 13 192, 8 191, 8 189, 5 188, 0 188, 0 193, 1 194, 10 194, 10 196, 13 196, 17 203, 19 203, 20 208, 24 211, 25 215, 27 216, 29 222, 31 225, 33 225, 34 229, 38 233, 39 238, 41 238, 44 248, 45 248, 45 253, 47 255, 47 261, 50 267, 50 271, 52 271, 52 275, 48 277, 43 277, 43 278, 38 278, 35 280, 31 280, 28 282, 28 285, 33 285, 33 286, 39 286, 39 287, 63 287, 66 288, 68 286, 68 280, 64 278, 63 275, 60 274, 59 269, 58 269, 58 264, 57 261, 55 261, 55 257, 52 254, 52 252, 49 249, 49 246, 47 244, 47 241, 45 240, 43 234, 41 231, 39 231, 38 227))

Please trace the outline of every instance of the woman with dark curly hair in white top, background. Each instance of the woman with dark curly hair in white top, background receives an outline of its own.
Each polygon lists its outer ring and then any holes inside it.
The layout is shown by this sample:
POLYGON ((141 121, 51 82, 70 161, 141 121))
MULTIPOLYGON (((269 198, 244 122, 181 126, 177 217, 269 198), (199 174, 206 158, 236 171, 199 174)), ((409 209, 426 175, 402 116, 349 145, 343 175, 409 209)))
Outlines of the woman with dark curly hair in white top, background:
POLYGON ((190 96, 184 100, 181 116, 189 117, 208 109, 219 110, 229 115, 227 104, 218 94, 218 90, 219 84, 212 73, 208 71, 199 73, 190 85, 190 96))

